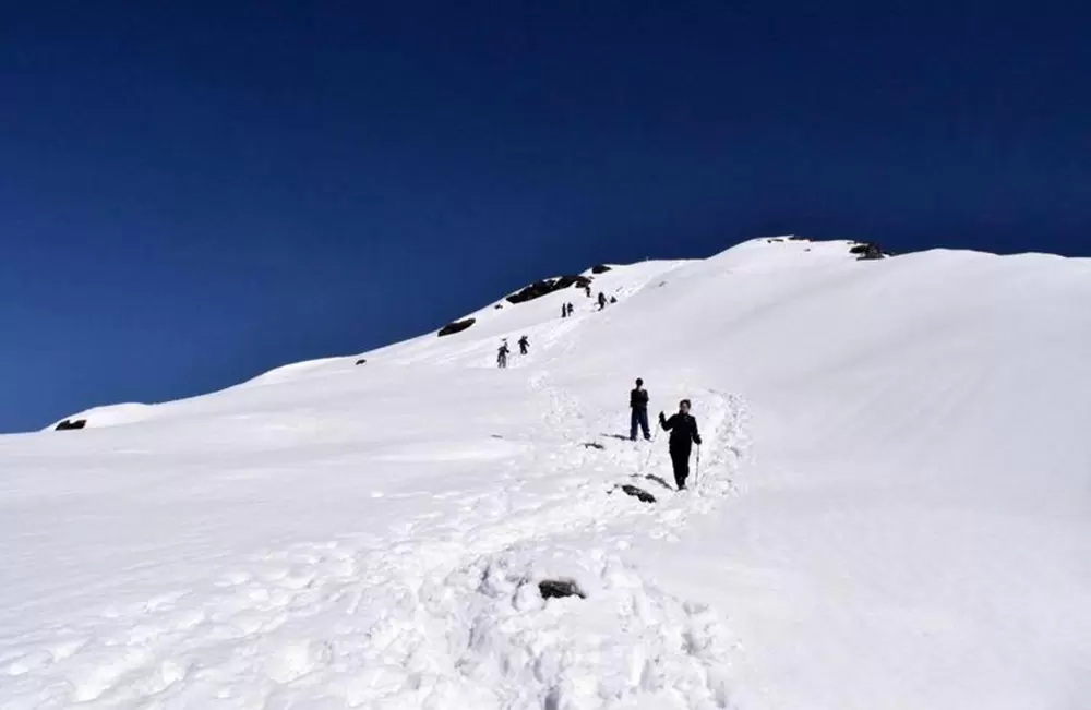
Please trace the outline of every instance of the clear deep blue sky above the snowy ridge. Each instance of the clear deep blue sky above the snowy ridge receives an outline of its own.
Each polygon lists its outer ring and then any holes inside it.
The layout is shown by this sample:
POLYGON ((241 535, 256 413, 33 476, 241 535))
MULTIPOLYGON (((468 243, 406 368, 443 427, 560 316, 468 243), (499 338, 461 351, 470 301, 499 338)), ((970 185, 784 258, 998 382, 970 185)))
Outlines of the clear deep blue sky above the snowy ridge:
POLYGON ((0 431, 600 261, 786 232, 1091 253, 1087 3, 23 4, 0 431))

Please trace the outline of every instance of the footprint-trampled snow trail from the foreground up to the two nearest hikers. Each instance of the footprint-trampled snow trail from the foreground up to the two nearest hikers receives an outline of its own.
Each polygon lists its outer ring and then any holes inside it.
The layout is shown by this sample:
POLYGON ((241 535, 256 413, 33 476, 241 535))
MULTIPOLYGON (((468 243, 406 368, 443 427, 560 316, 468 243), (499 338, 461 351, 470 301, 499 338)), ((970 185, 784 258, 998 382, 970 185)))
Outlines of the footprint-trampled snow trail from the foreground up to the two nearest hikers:
POLYGON ((740 402, 705 400, 712 473, 700 493, 646 507, 611 494, 645 474, 633 467, 640 448, 583 446, 613 414, 586 412, 543 373, 529 388, 548 437, 496 490, 458 501, 453 519, 422 514, 389 539, 268 551, 8 643, 3 707, 731 707, 717 614, 619 553, 634 537, 674 538, 730 490, 740 402), (551 575, 588 598, 543 601, 536 585, 551 575))

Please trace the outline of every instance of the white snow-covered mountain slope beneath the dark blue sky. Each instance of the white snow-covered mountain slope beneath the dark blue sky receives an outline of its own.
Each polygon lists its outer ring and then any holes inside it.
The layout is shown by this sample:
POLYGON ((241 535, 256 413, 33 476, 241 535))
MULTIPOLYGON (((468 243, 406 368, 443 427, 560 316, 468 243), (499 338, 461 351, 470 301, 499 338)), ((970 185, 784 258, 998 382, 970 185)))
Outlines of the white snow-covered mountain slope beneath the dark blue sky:
POLYGON ((1091 261, 848 245, 0 437, 0 708, 1091 707, 1091 261))

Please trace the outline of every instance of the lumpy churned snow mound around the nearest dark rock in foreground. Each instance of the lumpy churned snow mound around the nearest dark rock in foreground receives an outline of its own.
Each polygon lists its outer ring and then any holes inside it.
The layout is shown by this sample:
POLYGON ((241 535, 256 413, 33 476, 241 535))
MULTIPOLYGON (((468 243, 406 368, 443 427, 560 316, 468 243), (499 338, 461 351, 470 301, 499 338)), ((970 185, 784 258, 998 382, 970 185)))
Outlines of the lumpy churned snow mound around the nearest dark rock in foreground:
MULTIPOLYGON (((435 592, 425 586, 420 597, 434 599, 430 612, 440 612, 439 628, 446 631, 427 635, 425 651, 433 636, 443 639, 453 649, 447 658, 455 682, 487 693, 476 703, 463 702, 467 707, 732 707, 722 677, 728 638, 716 615, 663 592, 633 564, 586 541, 536 541, 488 555, 435 592), (551 581, 575 582, 578 591, 571 595, 578 603, 551 595, 551 586, 542 588, 551 581)), ((435 707, 476 697, 442 697, 447 702, 435 707)), ((396 707, 425 707, 410 699, 406 694, 407 702, 396 707)))

